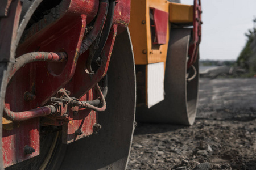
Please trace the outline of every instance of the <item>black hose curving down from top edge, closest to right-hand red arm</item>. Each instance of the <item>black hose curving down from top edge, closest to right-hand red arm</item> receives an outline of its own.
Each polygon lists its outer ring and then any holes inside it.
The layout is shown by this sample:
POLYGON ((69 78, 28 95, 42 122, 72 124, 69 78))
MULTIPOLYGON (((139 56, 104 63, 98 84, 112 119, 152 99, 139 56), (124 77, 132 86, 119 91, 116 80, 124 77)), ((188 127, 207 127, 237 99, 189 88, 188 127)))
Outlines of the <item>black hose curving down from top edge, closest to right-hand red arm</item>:
POLYGON ((106 41, 108 40, 109 32, 110 32, 110 29, 111 29, 111 26, 113 23, 114 11, 115 11, 115 0, 110 0, 108 14, 106 16, 106 21, 105 21, 104 28, 102 31, 101 40, 98 44, 98 48, 97 48, 96 52, 94 53, 93 58, 92 59, 88 58, 87 62, 86 62, 86 66, 87 66, 89 73, 94 73, 92 70, 92 61, 96 61, 98 59, 98 57, 100 56, 100 54, 106 44, 106 41))

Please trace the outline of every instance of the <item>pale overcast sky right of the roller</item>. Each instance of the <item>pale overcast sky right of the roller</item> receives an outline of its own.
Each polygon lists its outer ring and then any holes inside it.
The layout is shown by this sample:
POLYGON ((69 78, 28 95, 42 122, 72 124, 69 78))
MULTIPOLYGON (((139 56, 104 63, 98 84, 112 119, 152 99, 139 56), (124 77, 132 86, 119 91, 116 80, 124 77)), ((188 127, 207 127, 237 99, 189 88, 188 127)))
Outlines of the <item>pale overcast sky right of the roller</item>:
MULTIPOLYGON (((193 0, 181 0, 193 4, 193 0)), ((253 28, 256 0, 201 0, 201 59, 237 59, 246 42, 245 33, 253 28)))

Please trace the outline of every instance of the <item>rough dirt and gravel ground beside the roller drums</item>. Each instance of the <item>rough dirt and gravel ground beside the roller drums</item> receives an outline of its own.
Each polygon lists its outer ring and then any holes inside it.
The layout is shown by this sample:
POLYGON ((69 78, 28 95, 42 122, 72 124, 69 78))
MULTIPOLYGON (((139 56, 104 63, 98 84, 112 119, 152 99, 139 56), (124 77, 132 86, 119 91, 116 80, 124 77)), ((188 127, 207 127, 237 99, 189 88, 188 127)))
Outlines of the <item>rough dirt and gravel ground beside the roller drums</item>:
POLYGON ((199 94, 190 127, 138 122, 127 169, 256 169, 256 79, 204 78, 199 94))

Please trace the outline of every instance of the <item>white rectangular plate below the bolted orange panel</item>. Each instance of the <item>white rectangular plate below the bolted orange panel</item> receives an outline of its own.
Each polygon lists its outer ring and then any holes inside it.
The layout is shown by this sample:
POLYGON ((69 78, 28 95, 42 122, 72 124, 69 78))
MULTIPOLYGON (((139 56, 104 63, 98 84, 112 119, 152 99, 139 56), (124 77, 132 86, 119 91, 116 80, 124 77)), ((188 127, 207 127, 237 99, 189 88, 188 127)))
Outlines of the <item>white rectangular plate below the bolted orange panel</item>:
POLYGON ((164 63, 147 65, 147 107, 164 100, 164 63))

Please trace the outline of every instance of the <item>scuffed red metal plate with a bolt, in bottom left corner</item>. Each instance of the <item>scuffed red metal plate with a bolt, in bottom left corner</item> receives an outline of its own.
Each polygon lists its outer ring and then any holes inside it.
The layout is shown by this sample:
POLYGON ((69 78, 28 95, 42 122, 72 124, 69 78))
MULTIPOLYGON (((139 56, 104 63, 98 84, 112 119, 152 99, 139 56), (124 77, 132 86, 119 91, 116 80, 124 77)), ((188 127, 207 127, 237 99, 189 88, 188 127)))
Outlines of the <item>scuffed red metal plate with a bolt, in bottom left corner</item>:
POLYGON ((24 122, 4 124, 2 146, 5 167, 39 155, 39 117, 24 122), (34 148, 35 152, 25 154, 25 146, 34 148))

